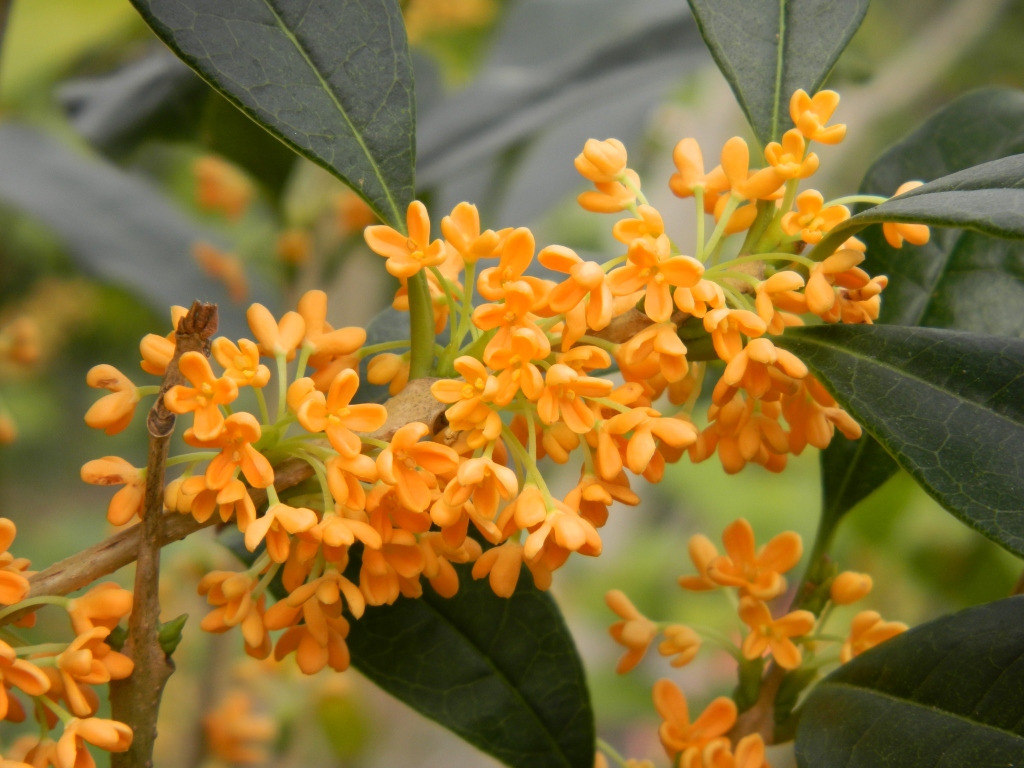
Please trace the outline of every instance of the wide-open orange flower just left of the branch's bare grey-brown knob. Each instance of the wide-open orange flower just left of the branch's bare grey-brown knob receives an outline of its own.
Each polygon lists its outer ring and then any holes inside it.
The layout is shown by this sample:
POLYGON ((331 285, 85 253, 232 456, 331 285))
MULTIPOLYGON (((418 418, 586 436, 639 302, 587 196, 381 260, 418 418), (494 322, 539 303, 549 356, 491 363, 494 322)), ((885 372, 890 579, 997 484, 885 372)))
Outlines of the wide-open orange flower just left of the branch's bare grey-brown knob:
POLYGON ((362 450, 362 440, 355 432, 373 432, 387 421, 387 410, 374 402, 350 404, 359 377, 354 371, 342 371, 331 382, 327 396, 311 392, 298 410, 299 424, 310 432, 326 432, 328 439, 342 456, 351 458, 362 450))

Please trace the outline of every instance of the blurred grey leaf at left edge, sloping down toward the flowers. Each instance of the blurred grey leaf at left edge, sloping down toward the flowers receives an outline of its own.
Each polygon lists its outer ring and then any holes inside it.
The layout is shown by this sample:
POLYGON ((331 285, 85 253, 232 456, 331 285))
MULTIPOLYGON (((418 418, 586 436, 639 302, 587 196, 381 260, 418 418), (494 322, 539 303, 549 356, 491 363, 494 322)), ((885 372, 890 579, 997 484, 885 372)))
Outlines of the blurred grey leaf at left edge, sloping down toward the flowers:
POLYGON ((56 232, 86 271, 138 292, 161 316, 169 304, 203 298, 220 304, 225 333, 246 327, 190 255, 197 241, 222 246, 220 238, 145 179, 8 122, 0 126, 0 199, 56 232))

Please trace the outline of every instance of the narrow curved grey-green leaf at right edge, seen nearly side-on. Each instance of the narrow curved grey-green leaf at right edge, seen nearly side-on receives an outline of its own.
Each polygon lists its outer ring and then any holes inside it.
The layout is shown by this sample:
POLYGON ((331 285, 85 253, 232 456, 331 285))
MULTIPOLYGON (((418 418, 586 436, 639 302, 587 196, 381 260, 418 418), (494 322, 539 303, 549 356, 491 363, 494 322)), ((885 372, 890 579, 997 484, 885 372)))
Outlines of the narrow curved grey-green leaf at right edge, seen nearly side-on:
POLYGON ((1024 240, 1024 155, 951 173, 847 219, 810 252, 818 260, 869 224, 903 221, 1024 240))

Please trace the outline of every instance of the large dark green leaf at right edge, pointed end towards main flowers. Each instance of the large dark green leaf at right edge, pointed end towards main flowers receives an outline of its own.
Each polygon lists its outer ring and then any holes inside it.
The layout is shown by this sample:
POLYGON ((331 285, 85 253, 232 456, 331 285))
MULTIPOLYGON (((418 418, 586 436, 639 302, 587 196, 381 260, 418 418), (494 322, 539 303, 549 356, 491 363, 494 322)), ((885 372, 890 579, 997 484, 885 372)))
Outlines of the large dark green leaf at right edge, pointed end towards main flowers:
POLYGON ((943 507, 1024 554, 1024 340, 819 326, 776 343, 943 507))

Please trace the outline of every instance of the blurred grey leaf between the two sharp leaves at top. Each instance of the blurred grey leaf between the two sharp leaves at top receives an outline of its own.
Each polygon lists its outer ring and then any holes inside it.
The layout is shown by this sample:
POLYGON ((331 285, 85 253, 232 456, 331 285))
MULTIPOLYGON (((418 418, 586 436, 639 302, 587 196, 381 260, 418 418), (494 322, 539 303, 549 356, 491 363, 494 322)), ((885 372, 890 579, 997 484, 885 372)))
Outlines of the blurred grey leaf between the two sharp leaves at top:
MULTIPOLYGON (((633 108, 643 120, 702 58, 693 19, 675 2, 588 0, 585 12, 554 0, 519 3, 479 77, 421 120, 419 184, 472 170, 546 126, 637 89, 655 92, 648 108, 633 108)), ((579 146, 596 134, 582 135, 579 146)), ((571 157, 562 162, 572 171, 571 157)))

